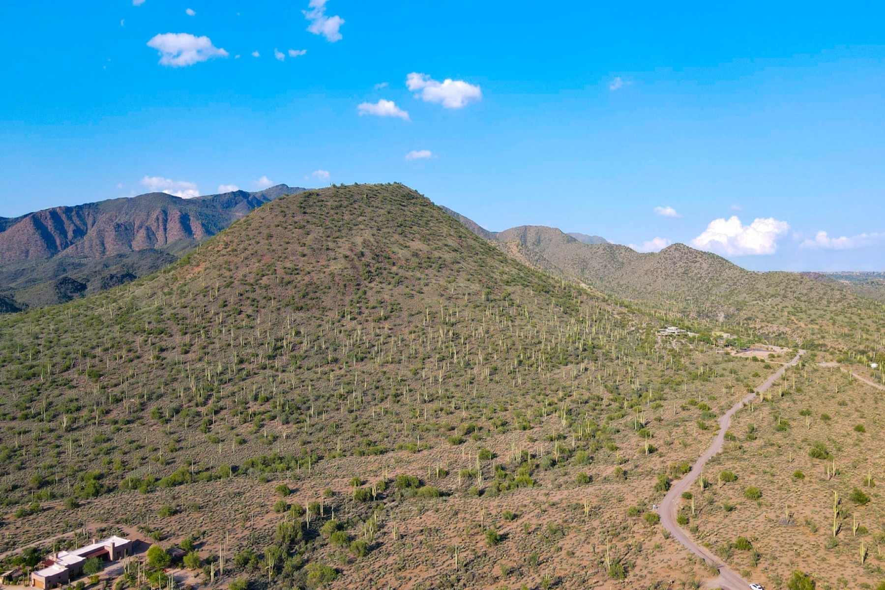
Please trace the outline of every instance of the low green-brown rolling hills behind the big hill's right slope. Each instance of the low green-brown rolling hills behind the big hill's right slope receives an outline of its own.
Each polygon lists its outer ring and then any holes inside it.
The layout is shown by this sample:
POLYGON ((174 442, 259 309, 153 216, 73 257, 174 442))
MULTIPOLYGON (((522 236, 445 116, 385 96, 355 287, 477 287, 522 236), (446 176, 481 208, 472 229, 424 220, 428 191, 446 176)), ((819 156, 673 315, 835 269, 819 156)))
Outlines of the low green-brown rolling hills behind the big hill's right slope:
MULTIPOLYGON (((463 216, 456 218, 474 234, 491 234, 463 216)), ((640 254, 619 244, 582 243, 545 226, 514 227, 490 239, 521 262, 579 280, 668 322, 699 322, 697 329, 707 332, 749 328, 780 344, 835 346, 833 335, 857 324, 856 310, 867 310, 859 319, 865 328, 860 338, 873 345, 880 326, 881 305, 869 301, 873 296, 860 298, 830 279, 750 272, 684 244, 640 254)), ((866 289, 874 293, 873 287, 866 289)))

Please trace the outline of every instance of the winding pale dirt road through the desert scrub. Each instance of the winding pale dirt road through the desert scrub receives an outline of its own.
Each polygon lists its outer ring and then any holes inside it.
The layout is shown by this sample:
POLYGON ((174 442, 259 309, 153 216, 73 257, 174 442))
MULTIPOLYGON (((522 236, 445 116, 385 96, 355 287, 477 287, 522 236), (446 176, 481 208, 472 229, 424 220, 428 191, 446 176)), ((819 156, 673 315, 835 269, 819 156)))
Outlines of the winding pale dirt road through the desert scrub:
POLYGON ((771 377, 766 379, 765 383, 756 387, 756 389, 753 390, 753 393, 744 397, 743 400, 735 403, 735 405, 720 418, 720 430, 719 433, 716 434, 716 438, 713 440, 710 448, 707 448, 707 450, 704 451, 704 455, 700 456, 696 463, 692 465, 691 471, 689 471, 688 475, 673 482, 673 487, 670 488, 670 491, 667 492, 666 496, 664 496, 664 500, 661 502, 660 506, 658 506, 658 515, 661 517, 661 524, 673 535, 673 538, 678 540, 685 548, 689 549, 689 551, 703 559, 706 563, 711 564, 720 572, 720 577, 719 579, 716 579, 716 583, 722 588, 722 590, 748 590, 750 583, 743 579, 737 572, 729 569, 728 566, 725 563, 722 563, 716 556, 713 556, 709 549, 698 545, 695 540, 689 536, 689 533, 686 533, 676 524, 676 510, 679 508, 682 492, 689 490, 689 487, 691 487, 701 475, 701 471, 704 469, 704 465, 707 464, 707 461, 722 450, 722 445, 725 443, 725 433, 728 430, 728 426, 731 425, 731 418, 735 416, 737 410, 742 409, 743 406, 752 402, 756 395, 766 391, 768 387, 772 387, 774 381, 780 379, 781 375, 783 375, 788 367, 796 366, 799 362, 799 358, 804 354, 804 350, 799 350, 799 354, 797 354, 796 358, 789 363, 784 364, 780 369, 774 372, 771 377))

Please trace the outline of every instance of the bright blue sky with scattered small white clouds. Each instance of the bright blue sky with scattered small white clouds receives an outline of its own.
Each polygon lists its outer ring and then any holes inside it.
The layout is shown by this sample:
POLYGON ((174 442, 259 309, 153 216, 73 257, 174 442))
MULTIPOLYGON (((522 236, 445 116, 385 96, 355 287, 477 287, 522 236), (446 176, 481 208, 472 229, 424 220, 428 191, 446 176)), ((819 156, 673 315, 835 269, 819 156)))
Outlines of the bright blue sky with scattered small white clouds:
POLYGON ((493 230, 885 270, 881 3, 135 4, 0 8, 0 216, 400 181, 493 230))

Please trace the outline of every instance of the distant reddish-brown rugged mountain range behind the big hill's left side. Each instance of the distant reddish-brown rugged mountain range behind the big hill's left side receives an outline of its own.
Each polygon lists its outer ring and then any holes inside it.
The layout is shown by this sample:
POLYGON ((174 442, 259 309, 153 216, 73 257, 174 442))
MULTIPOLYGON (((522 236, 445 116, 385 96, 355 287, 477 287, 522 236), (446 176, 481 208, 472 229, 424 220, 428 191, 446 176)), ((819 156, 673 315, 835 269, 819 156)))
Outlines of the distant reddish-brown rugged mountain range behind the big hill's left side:
POLYGON ((149 193, 2 218, 0 285, 17 302, 6 309, 62 303, 150 274, 262 204, 302 190, 149 193))

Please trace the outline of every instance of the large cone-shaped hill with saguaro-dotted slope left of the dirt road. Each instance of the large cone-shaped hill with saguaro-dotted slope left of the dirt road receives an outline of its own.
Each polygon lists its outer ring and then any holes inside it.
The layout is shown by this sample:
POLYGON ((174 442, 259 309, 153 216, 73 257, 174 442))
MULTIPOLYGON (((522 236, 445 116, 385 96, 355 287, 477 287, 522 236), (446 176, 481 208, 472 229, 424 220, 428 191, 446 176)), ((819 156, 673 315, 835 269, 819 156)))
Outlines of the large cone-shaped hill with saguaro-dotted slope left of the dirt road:
POLYGON ((755 367, 657 327, 402 185, 282 197, 150 277, 0 318, 0 539, 198 530, 274 587, 687 581, 625 507, 755 367))

